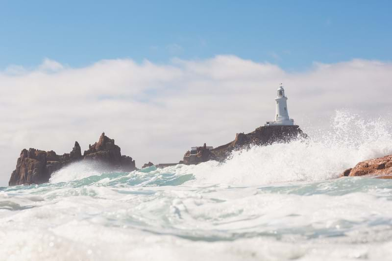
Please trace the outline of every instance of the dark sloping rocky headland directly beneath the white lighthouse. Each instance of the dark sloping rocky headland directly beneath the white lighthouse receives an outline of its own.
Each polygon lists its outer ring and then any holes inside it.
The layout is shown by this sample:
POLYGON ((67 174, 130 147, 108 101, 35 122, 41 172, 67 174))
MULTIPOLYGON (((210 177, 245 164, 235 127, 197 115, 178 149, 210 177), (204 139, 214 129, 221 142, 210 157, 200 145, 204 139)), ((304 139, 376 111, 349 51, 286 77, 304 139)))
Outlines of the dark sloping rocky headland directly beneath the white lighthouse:
POLYGON ((290 142, 297 138, 306 138, 307 135, 302 132, 298 125, 272 125, 256 128, 254 131, 244 134, 238 133, 234 141, 221 145, 214 149, 208 149, 206 144, 197 147, 196 155, 191 155, 187 151, 184 159, 180 161, 183 164, 198 164, 210 160, 223 162, 233 150, 243 149, 250 145, 269 145, 274 142, 290 142))

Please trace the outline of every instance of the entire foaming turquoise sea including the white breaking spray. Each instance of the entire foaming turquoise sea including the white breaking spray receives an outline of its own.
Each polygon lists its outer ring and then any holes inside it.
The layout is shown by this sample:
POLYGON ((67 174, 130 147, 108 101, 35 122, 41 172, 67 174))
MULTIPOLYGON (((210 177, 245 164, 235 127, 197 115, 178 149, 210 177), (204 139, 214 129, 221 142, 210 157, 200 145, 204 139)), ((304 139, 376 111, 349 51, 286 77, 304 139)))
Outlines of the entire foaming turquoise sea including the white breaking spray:
POLYGON ((225 163, 79 162, 48 184, 0 188, 0 260, 392 260, 392 181, 338 178, 392 154, 388 126, 337 112, 309 140, 225 163))

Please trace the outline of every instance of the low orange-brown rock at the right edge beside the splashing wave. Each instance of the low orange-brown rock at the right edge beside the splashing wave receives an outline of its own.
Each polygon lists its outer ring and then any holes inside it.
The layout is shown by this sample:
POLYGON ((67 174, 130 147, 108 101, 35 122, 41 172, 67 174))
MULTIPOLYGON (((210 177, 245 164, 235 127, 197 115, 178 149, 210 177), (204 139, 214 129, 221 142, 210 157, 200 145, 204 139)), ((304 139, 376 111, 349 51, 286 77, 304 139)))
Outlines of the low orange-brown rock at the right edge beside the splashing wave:
POLYGON ((392 155, 360 162, 353 168, 344 170, 341 177, 345 176, 372 176, 390 179, 392 178, 392 155))

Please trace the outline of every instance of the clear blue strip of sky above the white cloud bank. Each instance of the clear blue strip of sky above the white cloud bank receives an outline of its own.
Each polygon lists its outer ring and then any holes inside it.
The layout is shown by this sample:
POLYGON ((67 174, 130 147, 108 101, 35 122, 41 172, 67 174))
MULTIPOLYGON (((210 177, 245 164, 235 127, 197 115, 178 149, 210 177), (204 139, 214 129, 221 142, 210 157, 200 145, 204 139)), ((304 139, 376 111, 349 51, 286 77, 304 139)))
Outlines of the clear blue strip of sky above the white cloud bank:
POLYGON ((313 62, 391 61, 391 1, 0 1, 0 69, 46 57, 204 59, 233 54, 301 71, 313 62))

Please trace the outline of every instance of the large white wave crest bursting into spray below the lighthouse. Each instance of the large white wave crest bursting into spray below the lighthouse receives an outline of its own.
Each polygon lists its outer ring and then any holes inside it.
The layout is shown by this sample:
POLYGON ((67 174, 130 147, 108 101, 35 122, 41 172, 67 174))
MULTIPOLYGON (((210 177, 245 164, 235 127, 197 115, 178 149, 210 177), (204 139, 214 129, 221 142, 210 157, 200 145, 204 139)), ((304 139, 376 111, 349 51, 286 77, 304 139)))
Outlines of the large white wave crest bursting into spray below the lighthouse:
POLYGON ((392 154, 387 120, 365 120, 337 111, 329 130, 310 133, 309 140, 252 146, 235 151, 223 164, 207 162, 192 171, 196 184, 257 186, 337 178, 358 162, 392 154))

